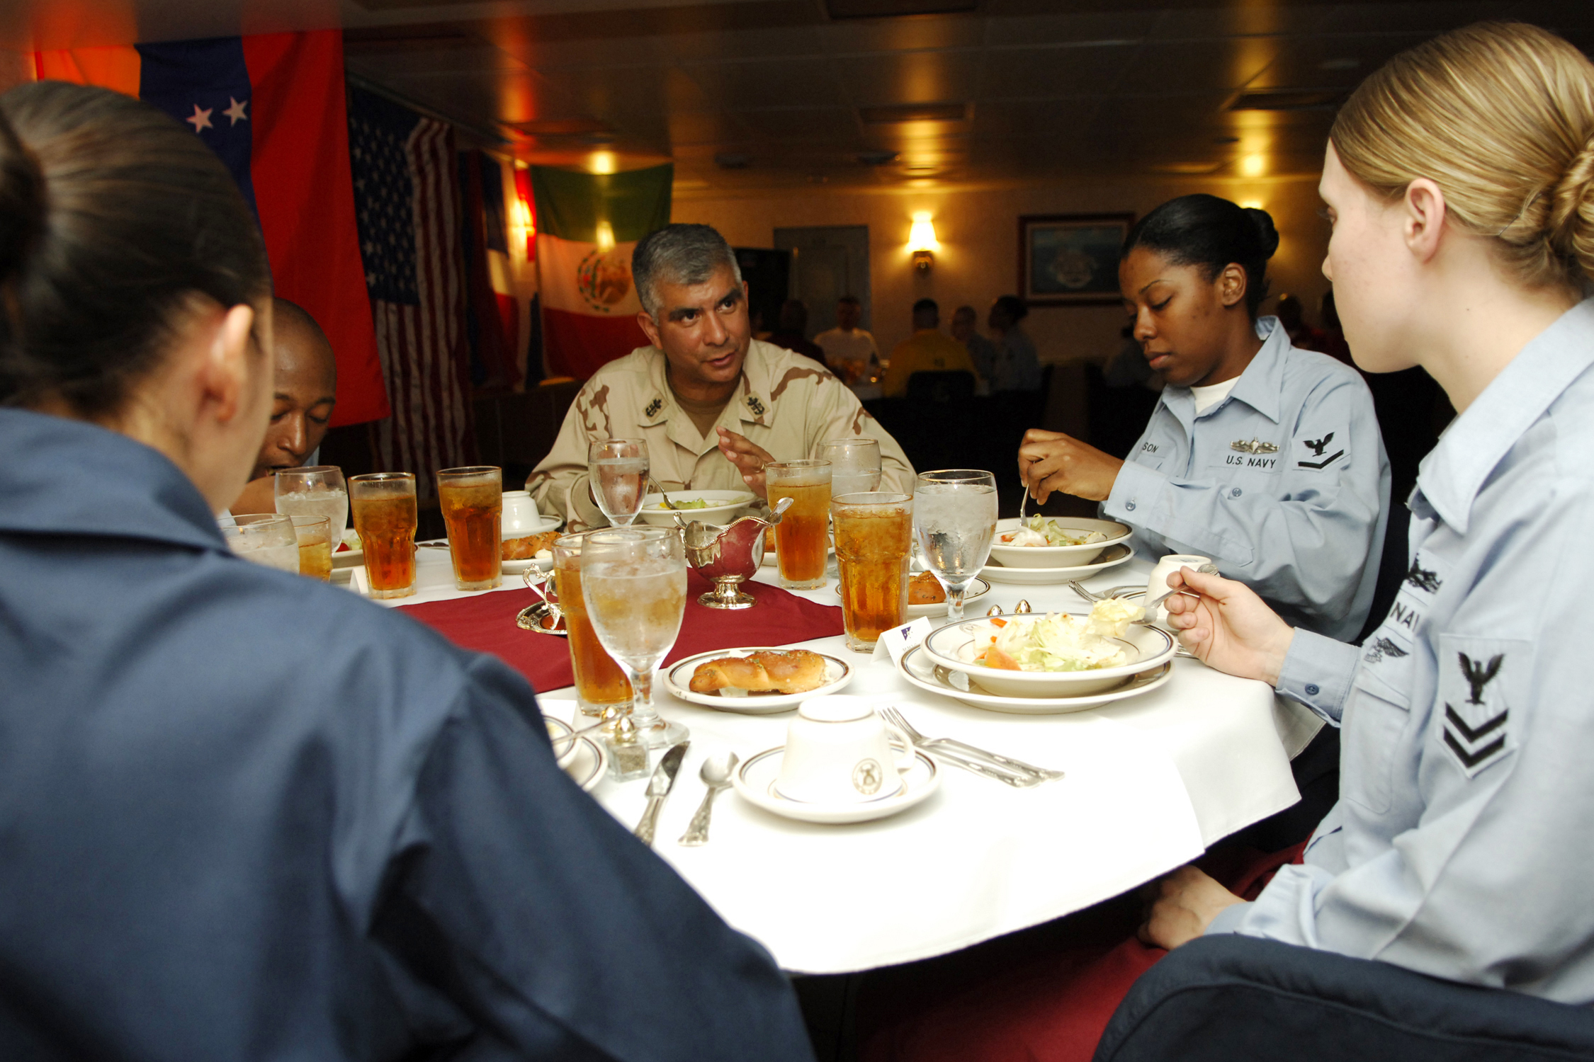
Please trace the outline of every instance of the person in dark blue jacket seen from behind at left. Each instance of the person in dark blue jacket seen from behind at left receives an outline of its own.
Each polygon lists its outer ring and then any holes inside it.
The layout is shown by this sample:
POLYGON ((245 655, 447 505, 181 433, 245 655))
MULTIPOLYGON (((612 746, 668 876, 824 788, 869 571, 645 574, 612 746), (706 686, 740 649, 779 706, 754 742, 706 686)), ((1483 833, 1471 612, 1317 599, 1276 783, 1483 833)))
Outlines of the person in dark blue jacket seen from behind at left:
POLYGON ((520 675, 228 552, 269 342, 191 132, 0 97, 0 1057, 811 1059, 520 675))

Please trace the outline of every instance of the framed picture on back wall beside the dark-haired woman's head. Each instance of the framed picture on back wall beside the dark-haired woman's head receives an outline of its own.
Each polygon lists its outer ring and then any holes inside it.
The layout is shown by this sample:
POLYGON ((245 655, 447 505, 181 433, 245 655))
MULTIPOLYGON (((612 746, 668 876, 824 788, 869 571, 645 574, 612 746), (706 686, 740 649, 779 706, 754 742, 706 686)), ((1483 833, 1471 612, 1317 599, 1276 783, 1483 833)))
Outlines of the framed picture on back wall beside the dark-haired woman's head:
POLYGON ((1117 303, 1117 252, 1133 223, 1133 213, 1020 217, 1019 293, 1031 306, 1117 303))

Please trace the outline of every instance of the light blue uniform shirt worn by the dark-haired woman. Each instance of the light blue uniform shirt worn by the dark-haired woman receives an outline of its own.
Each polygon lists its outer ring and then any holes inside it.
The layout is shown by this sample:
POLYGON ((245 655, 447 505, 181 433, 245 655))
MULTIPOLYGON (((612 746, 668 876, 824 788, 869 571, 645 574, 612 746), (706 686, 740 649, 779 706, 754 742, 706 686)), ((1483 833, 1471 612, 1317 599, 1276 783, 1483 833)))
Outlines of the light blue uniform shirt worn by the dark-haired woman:
POLYGON ((1196 412, 1167 387, 1101 514, 1135 549, 1211 557, 1291 624, 1353 638, 1384 546, 1390 463, 1372 393, 1355 369, 1290 346, 1277 317, 1218 404, 1196 412))

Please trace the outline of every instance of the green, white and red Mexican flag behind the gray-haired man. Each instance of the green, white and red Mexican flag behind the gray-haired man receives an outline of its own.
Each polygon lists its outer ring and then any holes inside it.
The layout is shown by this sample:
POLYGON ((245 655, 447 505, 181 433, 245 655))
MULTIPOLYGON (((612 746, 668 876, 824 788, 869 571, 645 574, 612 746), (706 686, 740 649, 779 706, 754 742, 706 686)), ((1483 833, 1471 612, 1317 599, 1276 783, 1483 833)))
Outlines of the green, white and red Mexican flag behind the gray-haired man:
POLYGON ((537 288, 550 376, 587 379, 647 346, 631 283, 638 240, 669 223, 673 166, 625 174, 531 167, 537 288))

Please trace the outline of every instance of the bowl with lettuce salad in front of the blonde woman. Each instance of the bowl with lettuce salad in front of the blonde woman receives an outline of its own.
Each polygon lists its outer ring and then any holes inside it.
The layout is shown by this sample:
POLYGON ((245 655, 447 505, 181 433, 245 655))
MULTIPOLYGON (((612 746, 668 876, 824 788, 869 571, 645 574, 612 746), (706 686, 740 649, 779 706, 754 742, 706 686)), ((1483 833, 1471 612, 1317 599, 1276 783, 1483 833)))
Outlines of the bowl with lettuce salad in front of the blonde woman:
POLYGON ((925 653, 998 696, 1086 696, 1173 656, 1173 635, 1138 623, 1143 616, 1117 599, 1097 602, 1087 616, 985 616, 932 631, 925 653))

